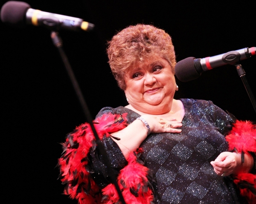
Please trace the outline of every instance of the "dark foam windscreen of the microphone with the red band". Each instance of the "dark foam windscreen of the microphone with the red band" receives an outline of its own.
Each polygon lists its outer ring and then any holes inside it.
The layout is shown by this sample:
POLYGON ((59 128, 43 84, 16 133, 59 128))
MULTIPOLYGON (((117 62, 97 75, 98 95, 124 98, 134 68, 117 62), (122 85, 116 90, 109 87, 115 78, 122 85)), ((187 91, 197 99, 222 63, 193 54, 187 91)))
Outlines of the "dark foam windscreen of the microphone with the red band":
POLYGON ((175 75, 182 82, 188 82, 200 77, 200 74, 194 66, 195 57, 188 57, 177 62, 175 66, 175 75))

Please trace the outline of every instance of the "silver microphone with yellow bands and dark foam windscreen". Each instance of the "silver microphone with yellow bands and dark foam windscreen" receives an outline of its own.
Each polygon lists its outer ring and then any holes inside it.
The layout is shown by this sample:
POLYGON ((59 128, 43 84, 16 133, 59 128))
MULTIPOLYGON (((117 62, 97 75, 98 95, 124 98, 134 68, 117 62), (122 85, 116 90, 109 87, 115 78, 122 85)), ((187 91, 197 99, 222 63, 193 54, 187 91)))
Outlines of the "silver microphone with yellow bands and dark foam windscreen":
POLYGON ((73 31, 91 31, 94 25, 81 18, 52 14, 30 7, 29 4, 21 1, 8 1, 1 8, 1 20, 10 26, 18 28, 26 24, 44 26, 51 30, 67 28, 73 31))

